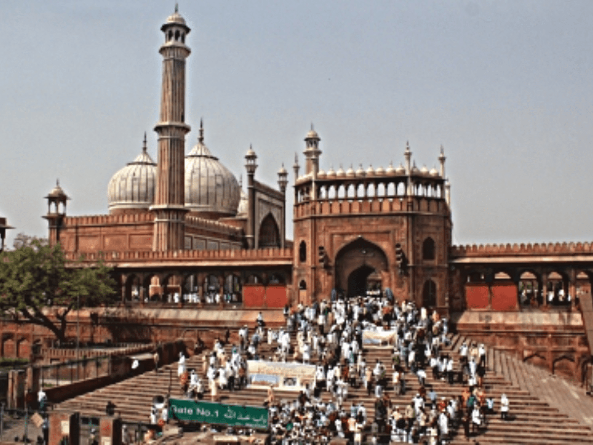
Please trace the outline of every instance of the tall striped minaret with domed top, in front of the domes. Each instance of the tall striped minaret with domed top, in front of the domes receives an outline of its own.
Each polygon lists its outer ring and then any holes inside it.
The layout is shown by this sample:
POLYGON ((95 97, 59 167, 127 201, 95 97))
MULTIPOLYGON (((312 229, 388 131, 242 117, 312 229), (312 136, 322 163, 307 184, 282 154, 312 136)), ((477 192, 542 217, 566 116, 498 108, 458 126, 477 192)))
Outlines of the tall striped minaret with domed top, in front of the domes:
POLYGON ((185 71, 190 54, 185 44, 190 28, 177 11, 161 26, 165 43, 162 55, 161 116, 154 131, 158 134, 157 187, 154 205, 154 239, 152 250, 184 248, 184 151, 185 135, 185 71))

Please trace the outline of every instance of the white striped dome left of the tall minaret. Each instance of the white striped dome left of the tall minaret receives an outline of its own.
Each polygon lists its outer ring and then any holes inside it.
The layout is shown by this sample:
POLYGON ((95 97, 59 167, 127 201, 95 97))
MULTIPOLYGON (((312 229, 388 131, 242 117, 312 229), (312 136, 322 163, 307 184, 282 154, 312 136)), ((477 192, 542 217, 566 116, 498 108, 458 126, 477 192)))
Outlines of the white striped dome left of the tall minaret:
POLYGON ((109 211, 148 209, 154 201, 157 164, 146 152, 146 135, 142 152, 135 160, 117 171, 107 186, 109 211))

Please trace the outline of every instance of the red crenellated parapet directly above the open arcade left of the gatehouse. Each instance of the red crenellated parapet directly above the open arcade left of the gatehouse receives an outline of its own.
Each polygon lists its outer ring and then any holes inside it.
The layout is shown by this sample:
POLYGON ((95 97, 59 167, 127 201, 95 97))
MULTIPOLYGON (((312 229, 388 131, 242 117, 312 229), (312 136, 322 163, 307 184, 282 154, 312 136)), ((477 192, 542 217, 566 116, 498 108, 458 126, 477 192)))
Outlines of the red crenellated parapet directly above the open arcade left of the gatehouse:
POLYGON ((66 260, 82 260, 87 263, 96 263, 103 260, 106 263, 119 262, 150 262, 151 260, 161 263, 180 262, 184 260, 216 260, 216 261, 237 261, 237 260, 270 260, 292 261, 292 249, 235 249, 235 250, 171 250, 165 252, 153 251, 126 251, 126 252, 90 252, 75 253, 66 252, 66 260))

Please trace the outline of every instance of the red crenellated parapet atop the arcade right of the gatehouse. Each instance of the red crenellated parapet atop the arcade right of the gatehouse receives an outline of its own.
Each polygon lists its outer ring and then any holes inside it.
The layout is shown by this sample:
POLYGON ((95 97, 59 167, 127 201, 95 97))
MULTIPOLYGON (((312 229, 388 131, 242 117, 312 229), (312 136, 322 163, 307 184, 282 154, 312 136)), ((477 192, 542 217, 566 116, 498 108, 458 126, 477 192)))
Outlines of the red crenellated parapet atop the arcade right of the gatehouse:
POLYGON ((529 256, 529 255, 575 255, 593 253, 593 242, 585 243, 521 243, 521 244, 467 244, 451 246, 453 258, 476 256, 529 256))

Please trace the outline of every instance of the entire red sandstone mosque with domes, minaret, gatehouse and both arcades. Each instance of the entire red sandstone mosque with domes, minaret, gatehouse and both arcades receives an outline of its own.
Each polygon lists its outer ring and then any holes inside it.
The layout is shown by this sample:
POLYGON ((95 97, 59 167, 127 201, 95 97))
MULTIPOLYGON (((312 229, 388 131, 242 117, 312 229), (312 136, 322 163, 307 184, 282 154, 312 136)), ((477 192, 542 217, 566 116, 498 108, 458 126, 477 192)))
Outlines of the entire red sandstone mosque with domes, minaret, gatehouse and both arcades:
MULTIPOLYGON (((208 311, 212 326, 216 317, 235 326, 259 310, 282 322, 285 306, 388 292, 524 360, 583 372, 588 332, 593 336, 593 243, 454 246, 442 148, 438 170, 418 168, 408 145, 397 167, 324 171, 313 126, 304 138, 304 170, 299 157, 292 168, 288 240, 284 166, 277 186, 259 182, 250 148, 243 190, 206 146, 202 122, 185 154, 190 28, 176 11, 161 31, 156 161, 145 138, 138 156, 109 180, 109 214, 66 214, 69 197, 59 185, 46 196, 50 242, 62 243, 69 259, 113 267, 122 307, 178 309, 187 323, 177 320, 167 331, 177 338, 208 311), (225 307, 233 311, 221 314, 225 307)), ((3 332, 9 341, 36 341, 3 332)))

